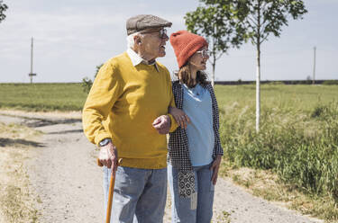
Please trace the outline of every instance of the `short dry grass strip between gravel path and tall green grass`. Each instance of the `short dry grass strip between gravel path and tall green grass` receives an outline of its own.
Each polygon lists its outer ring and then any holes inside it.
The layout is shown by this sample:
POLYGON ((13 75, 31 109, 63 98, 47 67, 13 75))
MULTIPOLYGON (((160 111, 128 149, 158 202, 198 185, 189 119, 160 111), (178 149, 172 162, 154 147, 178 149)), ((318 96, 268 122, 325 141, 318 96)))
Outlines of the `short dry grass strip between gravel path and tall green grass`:
MULTIPOLYGON (((226 162, 226 161, 224 161, 226 162)), ((324 219, 327 223, 337 223, 337 203, 330 195, 315 195, 298 188, 292 183, 280 181, 278 174, 271 170, 238 167, 236 165, 222 166, 220 173, 230 178, 233 183, 244 188, 252 195, 271 201, 279 206, 297 210, 303 215, 324 219)))

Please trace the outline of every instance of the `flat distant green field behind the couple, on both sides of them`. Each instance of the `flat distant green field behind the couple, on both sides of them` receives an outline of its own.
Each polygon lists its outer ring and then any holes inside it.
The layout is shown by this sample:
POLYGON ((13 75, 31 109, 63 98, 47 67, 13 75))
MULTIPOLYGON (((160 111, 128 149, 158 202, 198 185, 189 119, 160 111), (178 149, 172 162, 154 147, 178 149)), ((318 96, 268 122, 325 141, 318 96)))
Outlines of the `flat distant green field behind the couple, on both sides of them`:
MULTIPOLYGON (((223 106, 255 104, 255 85, 216 85, 223 106), (235 103, 235 104, 233 104, 235 103)), ((338 85, 261 85, 261 106, 311 111, 318 103, 336 99, 338 85)), ((81 84, 0 84, 0 108, 27 111, 80 111, 87 94, 81 84)))

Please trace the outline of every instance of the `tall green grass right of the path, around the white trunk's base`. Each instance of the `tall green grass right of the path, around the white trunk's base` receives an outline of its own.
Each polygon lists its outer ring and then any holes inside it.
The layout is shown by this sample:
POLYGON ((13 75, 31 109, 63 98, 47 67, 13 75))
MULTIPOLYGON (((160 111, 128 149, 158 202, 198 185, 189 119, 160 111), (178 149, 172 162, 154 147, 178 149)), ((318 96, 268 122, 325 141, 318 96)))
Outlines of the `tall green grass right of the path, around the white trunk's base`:
POLYGON ((318 103, 309 112, 264 107, 259 133, 251 128, 253 104, 221 114, 221 140, 229 161, 271 169, 284 182, 315 195, 331 194, 338 203, 338 102, 318 103))

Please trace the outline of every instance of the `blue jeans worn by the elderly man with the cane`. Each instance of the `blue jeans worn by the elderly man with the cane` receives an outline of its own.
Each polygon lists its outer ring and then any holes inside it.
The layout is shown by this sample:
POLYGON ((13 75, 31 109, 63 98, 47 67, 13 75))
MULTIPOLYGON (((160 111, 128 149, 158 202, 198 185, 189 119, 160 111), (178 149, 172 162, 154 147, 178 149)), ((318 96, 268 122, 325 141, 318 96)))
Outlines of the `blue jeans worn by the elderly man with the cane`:
MULTIPOLYGON (((111 169, 104 166, 105 216, 111 169)), ((161 223, 167 199, 167 168, 118 166, 111 222, 161 223)), ((105 217, 106 218, 106 217, 105 217)))

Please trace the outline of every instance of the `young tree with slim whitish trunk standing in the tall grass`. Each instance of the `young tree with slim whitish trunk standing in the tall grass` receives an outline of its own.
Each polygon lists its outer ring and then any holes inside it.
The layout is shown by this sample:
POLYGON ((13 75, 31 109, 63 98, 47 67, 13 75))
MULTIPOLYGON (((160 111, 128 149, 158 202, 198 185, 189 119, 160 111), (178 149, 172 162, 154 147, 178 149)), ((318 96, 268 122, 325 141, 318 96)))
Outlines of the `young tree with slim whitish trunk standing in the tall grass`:
MULTIPOLYGON (((211 1, 215 2, 215 1, 211 1)), ((288 26, 288 18, 302 19, 307 13, 302 0, 233 0, 229 13, 239 19, 245 29, 244 37, 257 49, 256 73, 256 131, 260 129, 260 44, 269 34, 280 36, 281 27, 288 26)), ((224 1, 225 3, 225 1, 224 1)))

